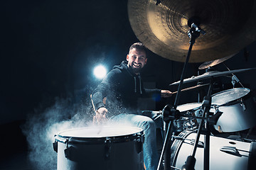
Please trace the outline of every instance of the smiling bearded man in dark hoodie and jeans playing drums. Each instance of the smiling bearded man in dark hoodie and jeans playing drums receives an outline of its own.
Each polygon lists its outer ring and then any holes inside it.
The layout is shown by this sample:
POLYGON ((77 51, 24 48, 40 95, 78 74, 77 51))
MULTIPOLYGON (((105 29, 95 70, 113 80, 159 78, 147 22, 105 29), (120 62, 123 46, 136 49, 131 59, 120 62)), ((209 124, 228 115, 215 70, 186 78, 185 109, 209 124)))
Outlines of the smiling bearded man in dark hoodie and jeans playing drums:
POLYGON ((139 97, 170 97, 171 91, 144 89, 139 72, 147 61, 146 47, 141 42, 129 48, 127 61, 114 66, 105 79, 92 92, 95 106, 94 120, 102 123, 107 118, 119 123, 131 123, 144 130, 144 164, 147 170, 156 169, 159 155, 156 150, 156 128, 162 128, 162 120, 154 111, 139 111, 139 97), (103 98, 107 97, 107 103, 103 98))

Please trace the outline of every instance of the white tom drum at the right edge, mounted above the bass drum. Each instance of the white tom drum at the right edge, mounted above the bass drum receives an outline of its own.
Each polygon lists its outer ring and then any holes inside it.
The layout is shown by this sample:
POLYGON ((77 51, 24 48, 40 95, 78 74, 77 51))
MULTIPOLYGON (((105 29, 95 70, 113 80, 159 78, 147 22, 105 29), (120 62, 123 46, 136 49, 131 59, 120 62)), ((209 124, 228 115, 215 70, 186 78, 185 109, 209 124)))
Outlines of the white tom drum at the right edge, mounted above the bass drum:
POLYGON ((220 91, 212 95, 212 105, 216 111, 223 112, 214 126, 215 130, 237 132, 256 125, 255 103, 250 96, 250 89, 220 91))

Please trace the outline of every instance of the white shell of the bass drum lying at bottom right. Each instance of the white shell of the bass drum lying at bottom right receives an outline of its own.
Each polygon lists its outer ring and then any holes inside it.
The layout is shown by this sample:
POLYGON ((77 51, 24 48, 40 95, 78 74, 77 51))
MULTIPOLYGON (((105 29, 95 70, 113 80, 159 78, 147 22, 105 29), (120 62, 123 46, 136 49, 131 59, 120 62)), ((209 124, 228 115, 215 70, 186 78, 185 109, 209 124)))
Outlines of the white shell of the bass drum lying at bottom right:
MULTIPOLYGON (((183 131, 182 133, 186 133, 186 139, 196 139, 196 133, 194 132, 189 134, 183 131)), ((204 142, 204 135, 201 135, 199 141, 204 142)), ((193 145, 190 144, 190 141, 185 140, 182 142, 181 140, 175 140, 171 147, 171 152, 174 155, 171 160, 171 165, 181 169, 187 157, 191 155, 192 149, 193 145)), ((250 143, 210 136, 210 170, 247 169, 249 152, 250 143), (222 147, 235 147, 238 149, 241 157, 220 151, 222 147)), ((203 147, 197 147, 195 169, 203 169, 203 153, 203 147)))

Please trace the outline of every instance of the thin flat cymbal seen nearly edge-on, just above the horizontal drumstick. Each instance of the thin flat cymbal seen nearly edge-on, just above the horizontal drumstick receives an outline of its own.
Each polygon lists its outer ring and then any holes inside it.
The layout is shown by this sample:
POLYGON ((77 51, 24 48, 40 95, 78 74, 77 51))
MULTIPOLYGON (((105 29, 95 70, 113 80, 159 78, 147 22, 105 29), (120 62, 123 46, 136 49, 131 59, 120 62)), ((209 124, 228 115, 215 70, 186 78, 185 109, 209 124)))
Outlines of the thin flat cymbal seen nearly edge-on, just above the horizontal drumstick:
MULTIPOLYGON (((249 70, 252 70, 252 69, 256 69, 256 68, 250 68, 250 69, 235 69, 235 70, 230 70, 230 71, 225 71, 225 72, 218 72, 218 71, 212 71, 212 72, 206 72, 202 75, 199 75, 197 77, 191 77, 191 78, 188 78, 188 79, 183 79, 183 83, 190 83, 190 82, 193 82, 193 81, 199 81, 199 80, 202 80, 202 79, 210 79, 211 77, 220 77, 220 76, 224 76, 224 75, 228 75, 228 74, 232 74, 232 73, 238 73, 238 72, 245 72, 245 71, 249 71, 249 70)), ((169 84, 169 86, 171 85, 176 85, 176 84, 179 84, 180 81, 176 81, 172 84, 169 84)))

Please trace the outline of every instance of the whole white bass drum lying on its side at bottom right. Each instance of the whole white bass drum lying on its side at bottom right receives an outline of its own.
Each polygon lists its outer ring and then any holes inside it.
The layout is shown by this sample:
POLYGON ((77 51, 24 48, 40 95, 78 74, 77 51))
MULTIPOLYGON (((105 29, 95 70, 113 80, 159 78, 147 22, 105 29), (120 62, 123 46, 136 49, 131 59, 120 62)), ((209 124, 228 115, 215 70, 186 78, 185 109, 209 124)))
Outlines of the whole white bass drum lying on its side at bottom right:
MULTIPOLYGON (((171 145, 171 166, 181 169, 187 157, 191 155, 196 132, 186 130, 178 137, 183 140, 176 139, 171 145)), ((196 149, 195 169, 203 169, 204 135, 200 136, 199 141, 201 145, 196 149)), ((255 154, 256 142, 247 143, 210 136, 210 170, 255 169, 255 154)))

